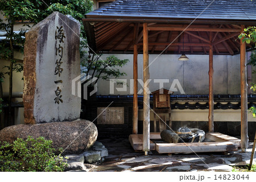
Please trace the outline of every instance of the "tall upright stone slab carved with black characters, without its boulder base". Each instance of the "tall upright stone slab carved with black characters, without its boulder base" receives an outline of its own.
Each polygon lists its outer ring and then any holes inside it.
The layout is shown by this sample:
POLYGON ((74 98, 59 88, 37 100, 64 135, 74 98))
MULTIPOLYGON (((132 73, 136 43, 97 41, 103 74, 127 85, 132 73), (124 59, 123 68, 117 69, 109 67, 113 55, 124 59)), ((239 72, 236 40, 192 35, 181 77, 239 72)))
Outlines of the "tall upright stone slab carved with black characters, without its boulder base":
POLYGON ((26 32, 24 46, 25 123, 73 121, 81 98, 72 95, 80 75, 80 23, 55 12, 26 32))

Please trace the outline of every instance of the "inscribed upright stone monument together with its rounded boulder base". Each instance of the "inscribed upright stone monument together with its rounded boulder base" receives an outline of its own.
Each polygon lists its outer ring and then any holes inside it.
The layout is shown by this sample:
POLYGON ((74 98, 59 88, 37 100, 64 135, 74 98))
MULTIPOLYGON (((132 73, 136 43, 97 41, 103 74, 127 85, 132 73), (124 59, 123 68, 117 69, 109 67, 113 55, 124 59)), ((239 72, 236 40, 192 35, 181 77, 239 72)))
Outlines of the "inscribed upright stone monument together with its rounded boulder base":
POLYGON ((44 137, 63 154, 80 154, 97 139, 96 126, 79 119, 81 98, 72 95, 80 75, 80 23, 54 12, 26 33, 24 45, 25 125, 0 131, 0 141, 44 137))

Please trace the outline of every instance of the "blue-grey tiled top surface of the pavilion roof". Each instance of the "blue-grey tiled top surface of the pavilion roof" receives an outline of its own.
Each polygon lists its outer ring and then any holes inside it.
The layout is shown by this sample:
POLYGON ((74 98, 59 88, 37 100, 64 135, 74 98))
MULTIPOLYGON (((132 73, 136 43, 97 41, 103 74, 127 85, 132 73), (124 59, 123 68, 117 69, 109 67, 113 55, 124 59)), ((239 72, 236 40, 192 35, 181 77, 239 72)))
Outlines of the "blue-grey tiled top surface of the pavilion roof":
POLYGON ((117 0, 86 14, 86 18, 171 18, 256 20, 256 1, 250 0, 117 0))

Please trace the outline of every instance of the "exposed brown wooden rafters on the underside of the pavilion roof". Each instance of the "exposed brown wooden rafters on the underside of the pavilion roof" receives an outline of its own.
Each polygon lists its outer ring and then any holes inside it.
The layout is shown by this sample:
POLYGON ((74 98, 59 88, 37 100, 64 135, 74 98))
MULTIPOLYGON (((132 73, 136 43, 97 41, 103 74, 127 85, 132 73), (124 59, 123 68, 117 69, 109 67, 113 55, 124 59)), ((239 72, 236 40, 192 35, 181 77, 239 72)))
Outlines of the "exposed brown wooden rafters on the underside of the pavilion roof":
MULTIPOLYGON (((209 47, 209 32, 212 33, 212 48, 214 54, 230 54, 240 52, 239 43, 234 40, 240 30, 240 26, 234 26, 233 24, 193 24, 191 27, 186 28, 183 24, 159 24, 150 23, 147 27, 148 38, 151 42, 148 43, 150 46, 150 52, 156 53, 181 53, 183 51, 183 40, 182 35, 175 39, 175 42, 170 45, 174 35, 179 35, 181 31, 185 30, 184 33, 184 46, 186 53, 208 53, 209 47), (199 30, 200 29, 200 30, 199 30), (215 32, 214 32, 215 31, 215 32), (161 38, 161 39, 160 39, 161 38), (160 40, 159 40, 160 39, 160 40), (222 44, 219 46, 218 44, 222 44), (169 46, 171 46, 169 48, 169 46), (174 48, 175 47, 175 48, 174 48), (195 47, 195 48, 194 48, 195 47), (198 47, 198 48, 196 48, 198 47), (225 48, 225 49, 224 49, 225 48), (156 51, 157 50, 157 51, 156 51)), ((108 22, 108 23, 96 23, 94 26, 96 40, 96 50, 102 52, 130 52, 133 48, 133 44, 137 44, 138 52, 142 51, 142 23, 118 23, 118 22, 108 22), (131 35, 131 28, 134 28, 137 34, 131 35), (134 38, 134 36, 136 36, 134 38), (135 41, 132 42, 131 40, 135 41)), ((132 31, 132 32, 134 32, 132 31)), ((176 38, 176 36, 175 36, 176 38)), ((252 47, 250 44, 246 44, 247 48, 252 47)))

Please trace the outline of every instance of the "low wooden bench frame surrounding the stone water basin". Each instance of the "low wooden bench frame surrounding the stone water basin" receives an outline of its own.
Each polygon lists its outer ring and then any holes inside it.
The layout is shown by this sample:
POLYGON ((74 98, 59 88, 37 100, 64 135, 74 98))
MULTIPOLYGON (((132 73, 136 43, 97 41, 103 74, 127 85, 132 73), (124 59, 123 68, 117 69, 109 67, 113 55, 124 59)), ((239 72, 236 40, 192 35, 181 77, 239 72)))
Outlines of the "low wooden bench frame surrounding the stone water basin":
MULTIPOLYGON (((192 152, 226 152, 237 151, 240 147, 240 139, 221 133, 207 133, 207 140, 213 142, 201 143, 154 143, 152 140, 161 139, 160 133, 150 133, 150 150, 156 150, 159 154, 192 153, 192 152)), ((142 151, 143 135, 133 134, 129 136, 131 146, 135 151, 142 151)))

